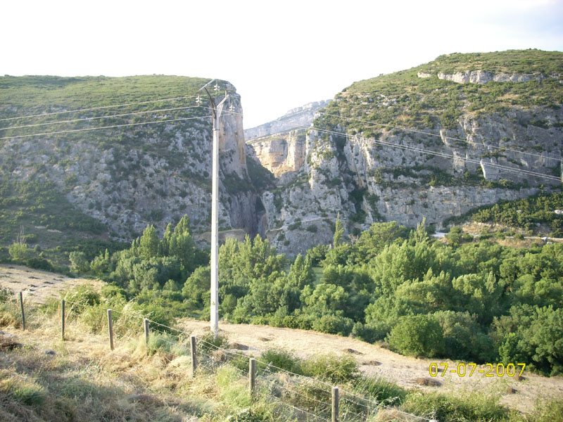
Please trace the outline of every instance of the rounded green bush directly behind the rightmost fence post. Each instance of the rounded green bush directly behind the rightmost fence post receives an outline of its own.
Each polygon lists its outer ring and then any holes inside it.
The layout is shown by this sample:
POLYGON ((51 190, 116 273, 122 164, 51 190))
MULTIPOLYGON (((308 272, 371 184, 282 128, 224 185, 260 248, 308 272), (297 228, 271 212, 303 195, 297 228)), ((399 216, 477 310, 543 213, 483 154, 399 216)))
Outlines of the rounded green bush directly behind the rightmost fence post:
POLYGON ((309 357, 301 364, 303 375, 331 383, 347 383, 360 375, 358 362, 350 354, 320 354, 309 357))

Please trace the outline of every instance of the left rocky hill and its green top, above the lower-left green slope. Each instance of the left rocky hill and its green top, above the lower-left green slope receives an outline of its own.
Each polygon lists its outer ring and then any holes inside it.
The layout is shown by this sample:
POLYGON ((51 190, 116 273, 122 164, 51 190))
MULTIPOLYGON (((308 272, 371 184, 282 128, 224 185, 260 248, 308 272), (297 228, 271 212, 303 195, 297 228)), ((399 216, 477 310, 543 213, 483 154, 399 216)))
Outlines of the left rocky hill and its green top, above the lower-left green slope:
MULTIPOLYGON (((6 183, 54 182, 71 204, 105 224, 114 238, 129 241, 147 224, 163 231, 168 222, 177 222, 184 214, 195 231, 207 231, 212 131, 206 102, 196 104, 197 89, 205 82, 158 76, 0 78, 5 93, 0 115, 4 119, 101 107, 4 120, 1 126, 12 128, 80 121, 0 132, 1 178, 6 183), (148 103, 109 108, 144 101, 148 103), (104 115, 120 116, 100 118, 104 115), (167 122, 146 124, 161 120, 167 122), (112 127, 83 130, 106 126, 112 127), (64 132, 69 130, 79 132, 64 132), (27 136, 32 134, 39 135, 27 136)), ((220 82, 217 102, 224 91, 230 99, 220 119, 220 228, 255 234, 260 219, 258 196, 246 168, 240 96, 231 84, 220 82)), ((4 210, 9 207, 4 206, 4 210)), ((30 221, 26 233, 33 233, 37 226, 38 220, 30 221)), ((2 240, 6 244, 15 238, 2 240)))

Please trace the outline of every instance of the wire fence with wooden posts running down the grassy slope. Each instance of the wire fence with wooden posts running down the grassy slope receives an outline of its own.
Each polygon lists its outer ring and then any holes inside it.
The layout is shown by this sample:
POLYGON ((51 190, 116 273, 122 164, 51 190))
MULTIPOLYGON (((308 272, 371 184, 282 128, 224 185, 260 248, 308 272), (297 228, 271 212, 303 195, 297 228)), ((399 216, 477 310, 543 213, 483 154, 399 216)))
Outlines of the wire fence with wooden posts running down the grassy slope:
MULTIPOLYGON (((56 314, 61 324, 61 338, 65 341, 84 335, 84 328, 87 327, 92 333, 108 333, 108 347, 113 349, 125 341, 139 342, 141 333, 144 333, 147 353, 161 350, 172 357, 191 357, 192 373, 186 376, 216 374, 228 366, 239 377, 239 381, 248 380, 248 391, 254 399, 274 405, 279 416, 291 416, 307 422, 369 422, 381 420, 378 415, 386 411, 392 415, 391 418, 384 416, 386 421, 434 421, 359 395, 349 385, 336 387, 326 381, 274 366, 253 357, 251 350, 230 348, 221 337, 196 336, 189 331, 147 319, 141 312, 130 309, 128 304, 120 310, 74 300, 32 306, 23 300, 23 295, 12 295, 8 290, 0 290, 0 305, 4 313, 11 315, 14 326, 26 330, 43 329, 45 315, 56 314), (252 369, 253 365, 255 369, 252 369)), ((127 375, 153 391, 141 376, 132 371, 127 375)))

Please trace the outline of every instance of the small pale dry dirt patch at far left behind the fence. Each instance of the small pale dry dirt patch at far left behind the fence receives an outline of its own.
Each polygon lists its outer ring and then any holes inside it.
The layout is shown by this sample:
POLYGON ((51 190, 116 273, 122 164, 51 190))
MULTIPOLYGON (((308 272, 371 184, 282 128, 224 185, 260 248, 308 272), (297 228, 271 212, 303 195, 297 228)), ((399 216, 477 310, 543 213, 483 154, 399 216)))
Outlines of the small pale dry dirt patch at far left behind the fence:
POLYGON ((60 298, 61 292, 87 284, 100 287, 101 281, 71 279, 61 274, 39 271, 20 265, 0 264, 0 288, 8 288, 14 293, 23 292, 24 300, 43 304, 50 298, 60 298))

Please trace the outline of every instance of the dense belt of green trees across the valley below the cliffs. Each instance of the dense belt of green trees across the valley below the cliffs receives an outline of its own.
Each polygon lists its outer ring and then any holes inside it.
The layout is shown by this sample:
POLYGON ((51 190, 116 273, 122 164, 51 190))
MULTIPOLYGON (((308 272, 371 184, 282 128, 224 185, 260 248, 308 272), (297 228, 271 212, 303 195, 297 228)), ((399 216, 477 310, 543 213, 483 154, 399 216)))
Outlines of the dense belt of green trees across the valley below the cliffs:
MULTIPOLYGON (((153 226, 125 250, 73 269, 91 271, 114 295, 170 317, 209 318, 209 252, 184 216, 162 238, 153 226)), ((563 244, 512 248, 491 241, 447 245, 424 222, 373 224, 289 260, 260 236, 229 238, 219 252, 220 315, 382 341, 402 354, 563 370, 563 244)), ((106 289, 106 292, 108 290, 106 289)))

